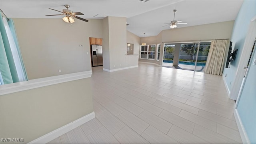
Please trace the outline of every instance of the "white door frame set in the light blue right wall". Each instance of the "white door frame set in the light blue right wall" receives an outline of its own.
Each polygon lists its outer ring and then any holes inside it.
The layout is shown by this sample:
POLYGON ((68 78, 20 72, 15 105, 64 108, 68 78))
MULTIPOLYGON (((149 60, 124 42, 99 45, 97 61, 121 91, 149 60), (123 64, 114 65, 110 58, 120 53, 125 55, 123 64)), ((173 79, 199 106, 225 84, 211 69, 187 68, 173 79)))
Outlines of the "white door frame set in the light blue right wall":
POLYGON ((250 20, 248 33, 246 34, 244 46, 242 49, 242 55, 238 63, 238 68, 236 70, 236 78, 233 82, 234 85, 232 86, 232 89, 230 92, 230 99, 237 100, 237 103, 239 102, 241 85, 243 85, 242 80, 244 78, 244 66, 247 66, 248 64, 247 58, 250 57, 255 38, 256 38, 256 16, 254 16, 250 20))

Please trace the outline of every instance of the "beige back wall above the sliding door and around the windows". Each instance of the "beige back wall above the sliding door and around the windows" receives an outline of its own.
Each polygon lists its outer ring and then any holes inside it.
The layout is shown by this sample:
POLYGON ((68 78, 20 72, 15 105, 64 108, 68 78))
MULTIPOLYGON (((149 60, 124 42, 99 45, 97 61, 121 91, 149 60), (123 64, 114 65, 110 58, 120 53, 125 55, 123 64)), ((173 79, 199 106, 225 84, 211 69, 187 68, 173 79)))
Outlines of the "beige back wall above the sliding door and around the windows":
MULTIPOLYGON (((160 61, 139 59, 139 62, 151 62, 162 65, 164 42, 186 42, 193 40, 230 39, 234 21, 174 28, 163 30, 157 36, 145 37, 146 44, 161 43, 160 61)), ((140 38, 143 42, 144 38, 140 38)))

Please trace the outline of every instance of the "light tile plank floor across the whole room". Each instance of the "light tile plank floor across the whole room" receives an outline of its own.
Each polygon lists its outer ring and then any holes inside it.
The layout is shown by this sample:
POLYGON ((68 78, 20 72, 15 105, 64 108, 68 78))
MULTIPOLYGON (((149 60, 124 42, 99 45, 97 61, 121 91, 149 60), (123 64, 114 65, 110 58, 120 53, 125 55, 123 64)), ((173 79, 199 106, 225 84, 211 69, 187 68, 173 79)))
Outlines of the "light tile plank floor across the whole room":
POLYGON ((96 118, 49 144, 242 143, 222 76, 150 64, 92 70, 96 118))

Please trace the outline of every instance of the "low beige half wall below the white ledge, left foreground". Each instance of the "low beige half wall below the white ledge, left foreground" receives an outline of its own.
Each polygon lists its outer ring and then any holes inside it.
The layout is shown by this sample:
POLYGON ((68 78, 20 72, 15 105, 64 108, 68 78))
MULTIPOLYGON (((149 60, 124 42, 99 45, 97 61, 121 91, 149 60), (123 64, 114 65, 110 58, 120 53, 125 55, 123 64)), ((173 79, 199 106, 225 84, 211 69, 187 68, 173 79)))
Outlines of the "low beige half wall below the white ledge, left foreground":
POLYGON ((93 112, 90 78, 2 95, 1 138, 30 142, 93 112))

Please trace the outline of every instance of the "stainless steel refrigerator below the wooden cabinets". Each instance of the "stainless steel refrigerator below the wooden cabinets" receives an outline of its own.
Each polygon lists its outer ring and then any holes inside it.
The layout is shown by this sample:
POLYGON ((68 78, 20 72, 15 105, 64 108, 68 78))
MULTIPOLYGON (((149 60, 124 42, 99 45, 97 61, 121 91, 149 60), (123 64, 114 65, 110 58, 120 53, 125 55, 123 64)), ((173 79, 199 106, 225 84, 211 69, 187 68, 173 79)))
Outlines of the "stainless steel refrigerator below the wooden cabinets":
POLYGON ((102 66, 102 46, 91 45, 92 66, 102 66))

